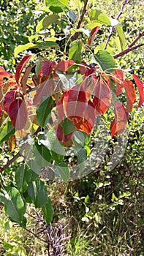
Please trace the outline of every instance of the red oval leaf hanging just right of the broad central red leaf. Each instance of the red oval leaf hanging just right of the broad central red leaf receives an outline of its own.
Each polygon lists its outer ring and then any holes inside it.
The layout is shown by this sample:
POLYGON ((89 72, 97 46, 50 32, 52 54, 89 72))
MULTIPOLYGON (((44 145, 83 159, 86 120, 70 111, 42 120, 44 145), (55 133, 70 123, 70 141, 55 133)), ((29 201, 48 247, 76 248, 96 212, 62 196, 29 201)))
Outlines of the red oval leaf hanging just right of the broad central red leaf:
POLYGON ((93 104, 96 108, 96 115, 103 115, 111 103, 110 88, 107 86, 105 80, 100 78, 100 80, 95 81, 92 94, 94 95, 93 104))

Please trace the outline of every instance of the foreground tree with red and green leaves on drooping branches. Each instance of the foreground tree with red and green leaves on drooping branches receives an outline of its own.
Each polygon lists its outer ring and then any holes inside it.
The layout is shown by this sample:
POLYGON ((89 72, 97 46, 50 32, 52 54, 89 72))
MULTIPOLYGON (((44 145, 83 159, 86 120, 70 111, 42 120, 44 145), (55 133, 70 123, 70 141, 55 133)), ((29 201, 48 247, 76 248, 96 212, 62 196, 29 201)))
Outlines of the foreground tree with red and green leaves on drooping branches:
POLYGON ((126 2, 116 18, 109 18, 87 0, 79 1, 79 6, 75 1, 45 1, 48 14, 39 20, 37 34, 15 48, 15 56, 23 50, 38 52, 23 56, 15 75, 0 68, 0 142, 8 151, 18 148, 1 167, 3 176, 10 172, 12 182, 1 184, 0 200, 8 217, 22 227, 26 228, 27 203, 42 208, 47 225, 53 218, 45 183, 39 178, 42 168, 52 179, 85 176, 91 170, 87 159, 96 119, 110 113, 111 137, 121 138, 133 106, 143 105, 143 83, 135 74, 127 79, 117 61, 144 45, 136 45, 144 35, 141 31, 126 47, 119 23, 126 2), (110 28, 107 37, 102 36, 105 27, 110 28), (44 55, 37 58, 41 51, 44 55), (10 166, 18 157, 21 162, 13 177, 10 166))

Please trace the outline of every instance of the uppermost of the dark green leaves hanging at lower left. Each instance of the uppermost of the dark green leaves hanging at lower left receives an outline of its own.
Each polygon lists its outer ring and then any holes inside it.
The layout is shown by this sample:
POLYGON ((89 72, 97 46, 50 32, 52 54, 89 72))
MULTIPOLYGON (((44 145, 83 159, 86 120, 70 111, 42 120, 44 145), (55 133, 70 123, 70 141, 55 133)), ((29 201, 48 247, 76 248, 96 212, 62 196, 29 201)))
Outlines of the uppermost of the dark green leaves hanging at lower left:
POLYGON ((15 172, 15 181, 20 192, 26 192, 31 181, 31 170, 28 165, 21 165, 15 172))

